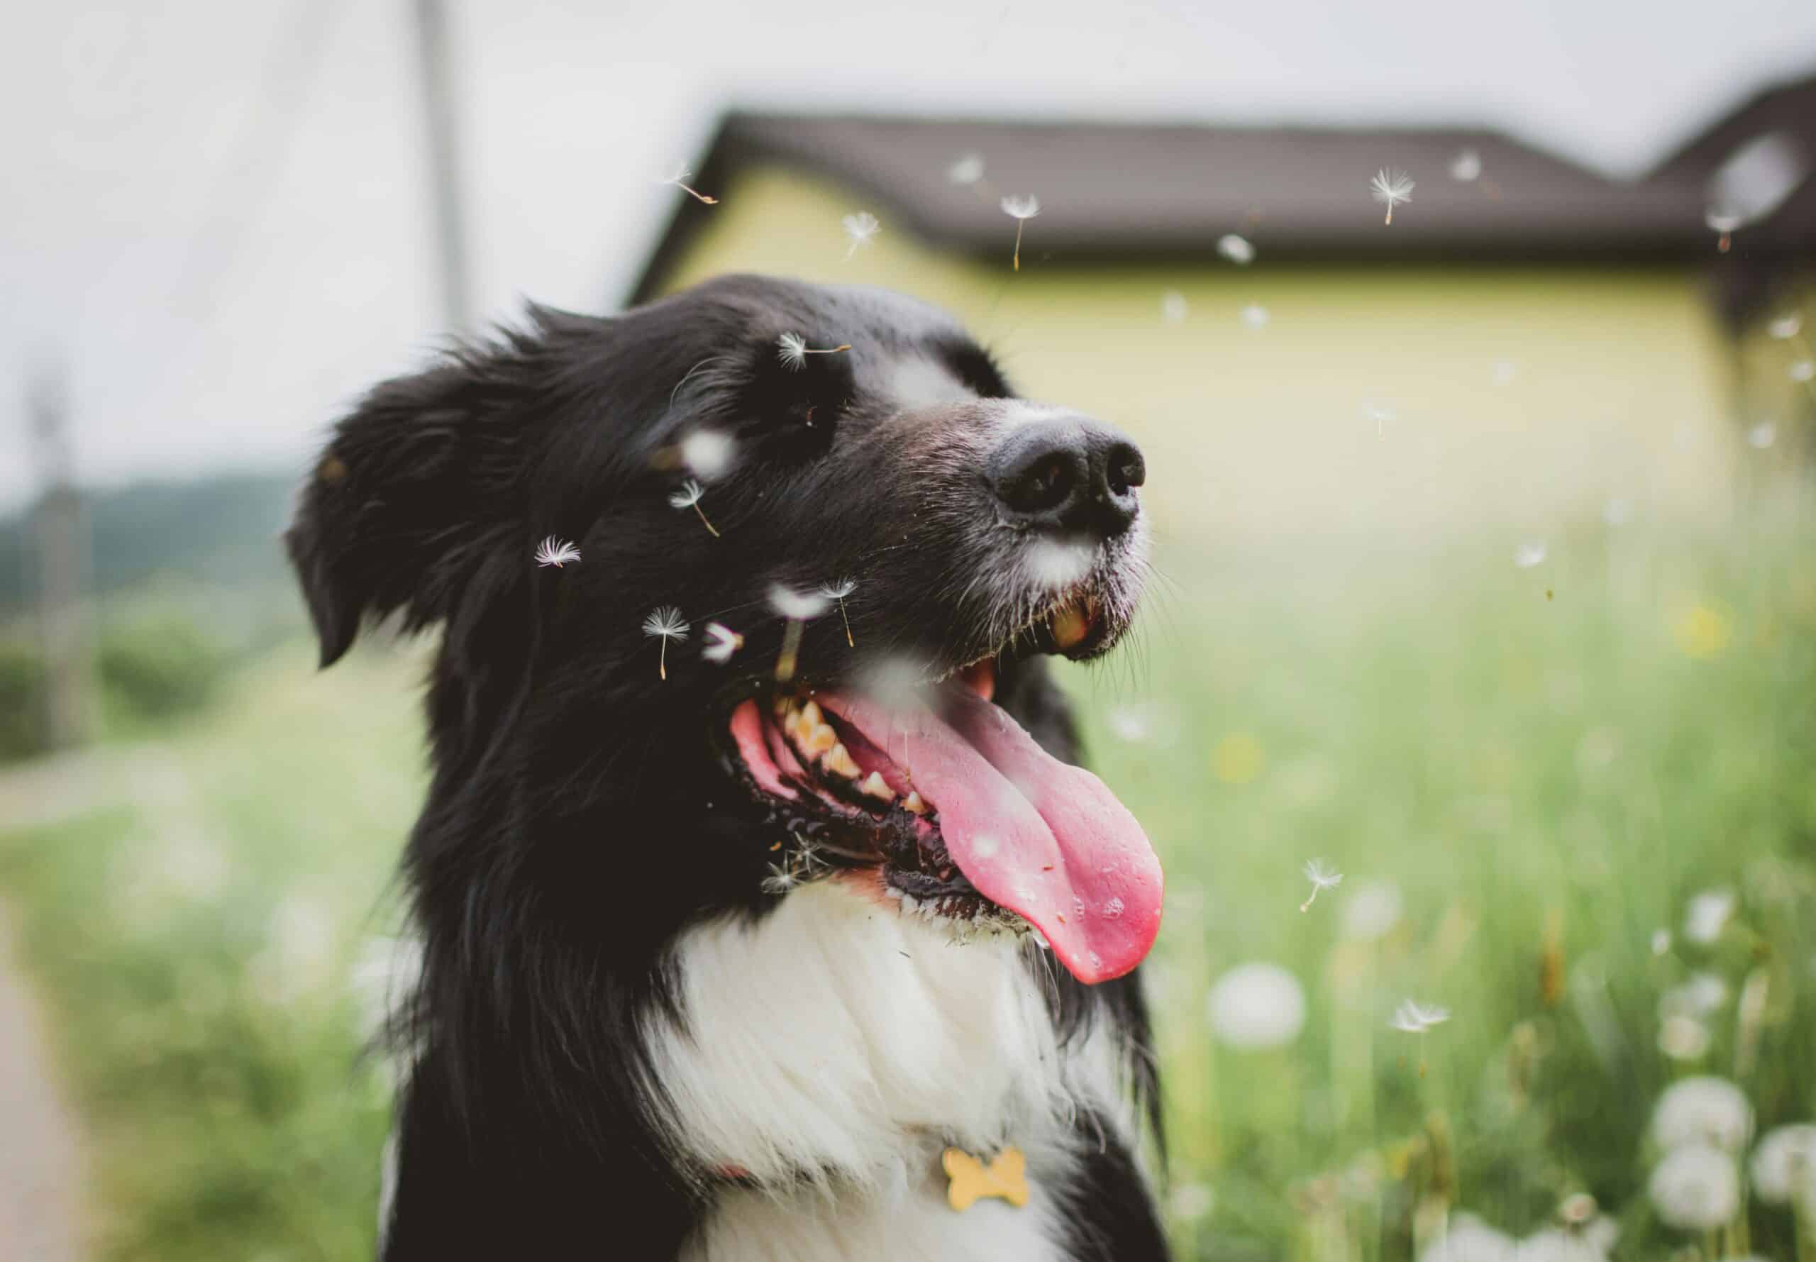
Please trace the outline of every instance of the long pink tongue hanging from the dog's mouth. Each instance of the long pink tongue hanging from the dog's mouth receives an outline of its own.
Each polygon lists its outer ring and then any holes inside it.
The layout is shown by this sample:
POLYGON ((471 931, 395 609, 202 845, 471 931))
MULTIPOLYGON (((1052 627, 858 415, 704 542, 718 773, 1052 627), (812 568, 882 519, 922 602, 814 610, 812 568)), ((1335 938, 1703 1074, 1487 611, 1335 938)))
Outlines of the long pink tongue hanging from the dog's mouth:
POLYGON ((819 703, 912 772, 959 870, 1031 921, 1073 977, 1102 982, 1142 961, 1160 930, 1160 861, 1100 779, 966 690, 941 694, 944 719, 866 697, 819 703))

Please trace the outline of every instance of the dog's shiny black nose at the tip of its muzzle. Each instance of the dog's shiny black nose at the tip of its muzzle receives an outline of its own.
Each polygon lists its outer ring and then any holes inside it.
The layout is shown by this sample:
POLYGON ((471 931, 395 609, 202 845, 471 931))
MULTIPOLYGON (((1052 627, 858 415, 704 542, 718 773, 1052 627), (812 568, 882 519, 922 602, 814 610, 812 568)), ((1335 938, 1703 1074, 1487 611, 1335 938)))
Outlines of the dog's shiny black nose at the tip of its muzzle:
POLYGON ((1004 514, 1042 530, 1111 539, 1130 528, 1148 465, 1120 430, 1086 416, 1028 421, 990 456, 1004 514))

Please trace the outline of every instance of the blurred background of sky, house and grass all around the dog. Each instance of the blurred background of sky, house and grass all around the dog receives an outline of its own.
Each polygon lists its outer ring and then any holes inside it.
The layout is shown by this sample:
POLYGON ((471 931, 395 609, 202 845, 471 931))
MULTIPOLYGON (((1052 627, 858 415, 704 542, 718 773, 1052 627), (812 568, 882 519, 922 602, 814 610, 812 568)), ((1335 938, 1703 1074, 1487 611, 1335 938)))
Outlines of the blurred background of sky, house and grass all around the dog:
POLYGON ((1148 452, 1064 681, 1182 1257, 1816 1258, 1816 7, 4 22, 0 1258, 370 1255, 430 645, 314 672, 292 485, 450 334, 734 269, 1148 452))

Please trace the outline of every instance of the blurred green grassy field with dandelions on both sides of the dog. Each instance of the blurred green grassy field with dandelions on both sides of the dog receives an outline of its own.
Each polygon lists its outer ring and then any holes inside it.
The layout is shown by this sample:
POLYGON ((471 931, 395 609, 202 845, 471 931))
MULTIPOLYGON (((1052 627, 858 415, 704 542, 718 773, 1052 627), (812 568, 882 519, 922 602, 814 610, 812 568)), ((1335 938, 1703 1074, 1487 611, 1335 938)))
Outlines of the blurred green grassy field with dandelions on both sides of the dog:
MULTIPOLYGON (((1184 1257, 1407 1258, 1464 1211, 1535 1237, 1584 1191, 1613 1257, 1792 1257, 1780 1206, 1685 1231, 1645 1189, 1676 1079, 1732 1079, 1762 1131, 1816 1120, 1816 516, 1584 523, 1529 568, 1515 543, 1175 547, 1140 643, 1068 670, 1170 873, 1184 1257), (1300 912, 1313 857, 1344 881, 1300 912), (1406 999, 1451 1017, 1395 1030, 1406 999)), ((414 672, 314 675, 294 645, 76 817, 0 833, 100 1257, 369 1255, 385 1082, 356 1030, 421 784, 414 672)))

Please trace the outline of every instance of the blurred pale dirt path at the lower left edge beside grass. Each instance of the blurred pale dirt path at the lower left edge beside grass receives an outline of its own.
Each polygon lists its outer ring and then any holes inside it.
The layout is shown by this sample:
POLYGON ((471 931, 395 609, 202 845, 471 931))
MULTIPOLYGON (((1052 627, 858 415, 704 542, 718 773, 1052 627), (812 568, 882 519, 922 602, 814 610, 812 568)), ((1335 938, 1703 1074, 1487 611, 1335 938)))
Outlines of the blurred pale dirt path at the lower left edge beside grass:
POLYGON ((82 1168, 36 1002, 0 906, 0 1258, 76 1262, 82 1168))

